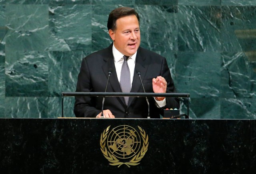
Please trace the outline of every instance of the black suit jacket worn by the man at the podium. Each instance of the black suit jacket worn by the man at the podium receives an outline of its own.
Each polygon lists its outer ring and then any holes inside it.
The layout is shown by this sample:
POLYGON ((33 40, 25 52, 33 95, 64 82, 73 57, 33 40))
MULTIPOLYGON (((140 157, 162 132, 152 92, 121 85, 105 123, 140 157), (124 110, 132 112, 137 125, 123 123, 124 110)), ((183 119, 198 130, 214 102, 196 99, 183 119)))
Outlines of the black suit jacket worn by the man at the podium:
MULTIPOLYGON (((76 92, 104 92, 108 79, 108 72, 112 69, 107 92, 122 92, 112 54, 113 43, 106 49, 92 53, 82 60, 80 73, 76 85, 76 92)), ((141 73, 142 83, 146 93, 153 93, 152 79, 162 76, 167 81, 166 93, 176 92, 166 59, 152 51, 138 48, 132 81, 131 92, 143 93, 143 88, 136 72, 141 73)), ((153 97, 148 97, 150 103, 150 117, 160 118, 164 108, 179 109, 178 98, 166 98, 166 106, 156 107, 153 97)), ((102 97, 76 97, 74 113, 76 117, 96 117, 102 109, 102 97)), ((125 105, 123 97, 106 97, 104 110, 109 109, 116 118, 147 118, 148 105, 145 97, 130 97, 125 105)))

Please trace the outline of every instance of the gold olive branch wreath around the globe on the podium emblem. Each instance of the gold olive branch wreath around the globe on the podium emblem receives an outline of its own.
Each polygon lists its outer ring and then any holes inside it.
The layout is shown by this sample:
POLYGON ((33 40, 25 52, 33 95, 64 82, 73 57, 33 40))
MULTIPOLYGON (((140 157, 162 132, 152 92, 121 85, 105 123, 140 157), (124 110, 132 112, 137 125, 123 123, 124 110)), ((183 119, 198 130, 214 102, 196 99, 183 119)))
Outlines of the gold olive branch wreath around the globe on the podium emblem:
POLYGON ((140 152, 138 152, 138 154, 135 155, 129 162, 120 162, 116 158, 116 156, 114 156, 110 152, 108 152, 108 150, 106 148, 106 139, 108 137, 110 126, 107 127, 107 129, 105 129, 102 132, 102 134, 100 135, 100 150, 102 151, 104 157, 110 162, 110 165, 112 165, 112 166, 118 165, 118 167, 120 167, 122 164, 125 164, 126 166, 128 166, 130 168, 130 166, 136 166, 136 165, 140 164, 138 162, 140 162, 140 160, 144 157, 144 155, 148 151, 148 135, 141 127, 138 126, 138 128, 140 129, 140 134, 143 139, 143 146, 142 146, 140 152))

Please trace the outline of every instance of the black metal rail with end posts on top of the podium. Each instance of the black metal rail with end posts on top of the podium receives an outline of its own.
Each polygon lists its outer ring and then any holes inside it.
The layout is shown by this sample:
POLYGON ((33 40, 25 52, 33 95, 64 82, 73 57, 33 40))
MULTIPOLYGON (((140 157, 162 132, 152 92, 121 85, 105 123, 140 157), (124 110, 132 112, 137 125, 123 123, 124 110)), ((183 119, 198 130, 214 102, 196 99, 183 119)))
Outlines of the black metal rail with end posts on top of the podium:
POLYGON ((62 92, 62 117, 63 97, 90 96, 90 97, 181 97, 187 98, 187 115, 189 116, 189 93, 95 93, 95 92, 62 92))

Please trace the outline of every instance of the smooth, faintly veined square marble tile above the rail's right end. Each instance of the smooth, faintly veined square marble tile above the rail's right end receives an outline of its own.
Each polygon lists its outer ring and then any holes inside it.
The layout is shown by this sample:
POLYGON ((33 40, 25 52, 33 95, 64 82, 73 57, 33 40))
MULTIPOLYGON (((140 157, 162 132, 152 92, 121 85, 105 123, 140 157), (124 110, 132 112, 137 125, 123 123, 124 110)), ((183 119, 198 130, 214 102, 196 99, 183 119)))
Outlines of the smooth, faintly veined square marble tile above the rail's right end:
POLYGON ((179 52, 175 64, 176 88, 191 98, 220 96, 220 53, 179 52))

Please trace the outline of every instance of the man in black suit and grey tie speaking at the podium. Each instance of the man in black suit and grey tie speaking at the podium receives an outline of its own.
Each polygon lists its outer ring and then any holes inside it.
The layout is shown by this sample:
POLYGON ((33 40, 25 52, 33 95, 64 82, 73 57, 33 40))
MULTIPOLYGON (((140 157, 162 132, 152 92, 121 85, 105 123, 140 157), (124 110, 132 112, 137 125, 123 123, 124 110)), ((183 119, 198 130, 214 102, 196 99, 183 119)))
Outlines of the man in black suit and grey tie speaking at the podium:
MULTIPOLYGON (((108 72, 112 71, 107 92, 176 92, 166 59, 140 47, 140 18, 133 8, 114 9, 108 17, 108 32, 113 43, 82 60, 76 92, 104 92, 108 72), (128 76, 127 76, 128 75, 128 76)), ((179 99, 149 97, 150 118, 160 118, 165 108, 179 109, 179 99)), ((147 118, 145 97, 106 97, 104 118, 147 118)), ((76 97, 76 117, 100 118, 102 97, 76 97)))

